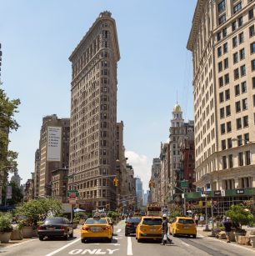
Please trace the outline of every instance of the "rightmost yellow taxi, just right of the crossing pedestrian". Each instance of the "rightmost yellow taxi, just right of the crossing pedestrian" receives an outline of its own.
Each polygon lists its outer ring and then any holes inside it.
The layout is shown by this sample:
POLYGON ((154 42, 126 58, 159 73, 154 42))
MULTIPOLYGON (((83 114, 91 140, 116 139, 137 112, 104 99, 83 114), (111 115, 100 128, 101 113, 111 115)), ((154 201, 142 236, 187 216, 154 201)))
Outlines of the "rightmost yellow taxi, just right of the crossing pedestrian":
POLYGON ((191 217, 176 217, 170 224, 169 233, 173 236, 177 234, 187 234, 188 236, 197 237, 197 226, 191 217))

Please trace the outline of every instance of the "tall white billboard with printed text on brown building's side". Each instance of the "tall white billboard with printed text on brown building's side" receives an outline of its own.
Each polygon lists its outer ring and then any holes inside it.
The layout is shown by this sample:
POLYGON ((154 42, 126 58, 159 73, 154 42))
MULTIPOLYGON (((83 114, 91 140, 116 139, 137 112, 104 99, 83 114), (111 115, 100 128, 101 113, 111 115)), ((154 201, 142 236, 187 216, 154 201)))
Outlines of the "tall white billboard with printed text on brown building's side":
POLYGON ((60 162, 61 160, 61 127, 47 128, 47 161, 60 162))

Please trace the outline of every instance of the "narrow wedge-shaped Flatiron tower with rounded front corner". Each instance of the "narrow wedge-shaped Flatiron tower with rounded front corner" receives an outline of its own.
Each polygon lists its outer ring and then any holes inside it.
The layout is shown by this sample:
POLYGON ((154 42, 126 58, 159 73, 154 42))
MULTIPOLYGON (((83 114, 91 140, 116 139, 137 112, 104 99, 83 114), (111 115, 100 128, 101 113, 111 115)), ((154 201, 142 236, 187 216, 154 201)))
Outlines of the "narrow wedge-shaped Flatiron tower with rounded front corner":
POLYGON ((111 13, 100 13, 78 43, 72 62, 69 189, 78 203, 116 209, 117 29, 111 13), (103 178, 104 176, 104 178, 103 178))

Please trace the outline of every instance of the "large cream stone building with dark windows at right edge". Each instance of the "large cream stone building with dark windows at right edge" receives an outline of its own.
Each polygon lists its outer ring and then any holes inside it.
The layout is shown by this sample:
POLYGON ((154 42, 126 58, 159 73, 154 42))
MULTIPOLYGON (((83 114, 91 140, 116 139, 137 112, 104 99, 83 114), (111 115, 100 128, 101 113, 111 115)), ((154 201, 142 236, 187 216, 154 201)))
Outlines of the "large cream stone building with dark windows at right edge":
POLYGON ((187 47, 198 187, 255 187, 254 7, 251 0, 197 3, 187 47))

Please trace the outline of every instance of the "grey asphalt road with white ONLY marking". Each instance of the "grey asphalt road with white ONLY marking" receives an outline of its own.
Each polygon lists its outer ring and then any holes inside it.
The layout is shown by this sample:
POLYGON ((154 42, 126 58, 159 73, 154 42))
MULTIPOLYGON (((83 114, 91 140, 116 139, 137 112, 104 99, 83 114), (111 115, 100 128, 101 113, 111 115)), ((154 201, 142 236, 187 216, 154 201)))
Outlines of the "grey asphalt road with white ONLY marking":
POLYGON ((162 246, 159 244, 160 242, 153 240, 138 243, 135 236, 125 237, 124 228, 124 222, 114 226, 112 243, 103 243, 102 241, 81 243, 79 229, 76 229, 74 237, 70 238, 68 241, 64 239, 39 241, 38 238, 33 238, 26 242, 15 244, 14 246, 0 248, 0 255, 255 255, 254 250, 251 248, 243 248, 235 243, 226 243, 226 241, 219 241, 215 238, 202 237, 199 235, 198 238, 173 238, 173 243, 166 246, 162 246))

